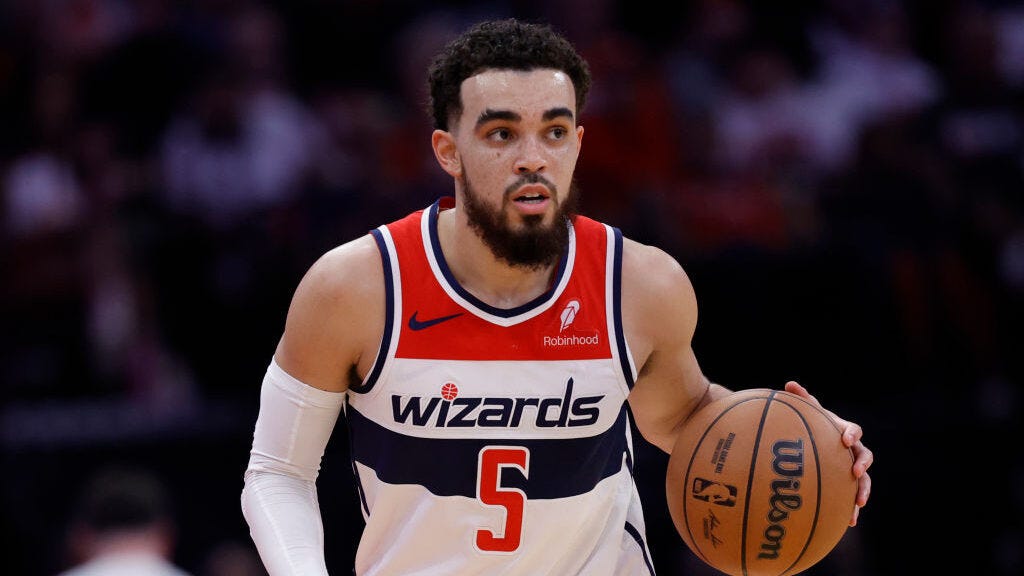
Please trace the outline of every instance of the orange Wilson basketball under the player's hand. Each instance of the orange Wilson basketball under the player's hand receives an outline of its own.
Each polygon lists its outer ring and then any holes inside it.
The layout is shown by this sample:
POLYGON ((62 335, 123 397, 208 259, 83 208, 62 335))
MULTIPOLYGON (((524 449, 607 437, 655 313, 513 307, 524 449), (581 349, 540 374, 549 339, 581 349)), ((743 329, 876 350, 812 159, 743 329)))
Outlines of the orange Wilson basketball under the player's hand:
POLYGON ((846 533, 853 452, 821 409, 753 388, 705 406, 669 457, 672 521, 705 563, 737 576, 807 570, 846 533))

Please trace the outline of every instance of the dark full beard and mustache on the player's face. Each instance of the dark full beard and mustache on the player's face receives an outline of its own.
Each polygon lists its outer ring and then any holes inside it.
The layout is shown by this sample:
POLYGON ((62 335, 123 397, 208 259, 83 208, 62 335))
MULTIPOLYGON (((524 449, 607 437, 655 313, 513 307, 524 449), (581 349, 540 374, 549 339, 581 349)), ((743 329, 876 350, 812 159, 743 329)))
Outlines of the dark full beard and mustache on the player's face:
POLYGON ((577 214, 580 197, 575 180, 569 183, 564 201, 559 202, 555 186, 540 174, 530 172, 505 189, 500 207, 490 208, 476 194, 469 174, 463 171, 461 178, 465 191, 463 208, 469 225, 496 258, 513 266, 541 270, 558 261, 568 248, 569 222, 577 214), (550 224, 544 223, 543 214, 529 214, 522 217, 521 228, 512 227, 511 214, 505 206, 512 202, 515 191, 526 183, 541 183, 551 191, 551 199, 556 205, 555 217, 550 224))

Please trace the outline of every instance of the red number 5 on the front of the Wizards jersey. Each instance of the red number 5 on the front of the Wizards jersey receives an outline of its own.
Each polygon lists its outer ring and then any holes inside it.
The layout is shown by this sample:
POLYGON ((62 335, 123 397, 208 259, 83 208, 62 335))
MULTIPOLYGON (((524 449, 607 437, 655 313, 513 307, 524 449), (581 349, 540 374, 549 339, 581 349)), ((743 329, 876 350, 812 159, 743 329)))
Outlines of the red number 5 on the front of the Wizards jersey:
POLYGON ((516 467, 528 478, 529 451, 521 446, 487 446, 480 450, 476 474, 476 499, 485 506, 505 508, 503 530, 476 531, 476 547, 485 552, 514 552, 522 538, 522 512, 526 495, 518 488, 502 487, 502 470, 516 467))

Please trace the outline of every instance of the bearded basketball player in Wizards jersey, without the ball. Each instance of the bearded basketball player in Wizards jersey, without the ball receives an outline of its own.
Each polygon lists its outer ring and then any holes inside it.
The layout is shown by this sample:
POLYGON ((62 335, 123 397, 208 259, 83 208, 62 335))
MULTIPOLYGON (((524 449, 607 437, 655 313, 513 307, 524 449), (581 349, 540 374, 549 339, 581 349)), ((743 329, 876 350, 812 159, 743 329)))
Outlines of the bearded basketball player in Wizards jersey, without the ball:
MULTIPOLYGON (((252 537, 272 576, 327 574, 315 480, 344 409, 366 520, 355 574, 651 574, 630 418, 671 452, 729 394, 694 358, 690 282, 575 213, 591 79, 564 38, 482 23, 428 78, 455 197, 300 282, 245 475, 252 537)), ((872 456, 836 421, 859 508, 872 456)))

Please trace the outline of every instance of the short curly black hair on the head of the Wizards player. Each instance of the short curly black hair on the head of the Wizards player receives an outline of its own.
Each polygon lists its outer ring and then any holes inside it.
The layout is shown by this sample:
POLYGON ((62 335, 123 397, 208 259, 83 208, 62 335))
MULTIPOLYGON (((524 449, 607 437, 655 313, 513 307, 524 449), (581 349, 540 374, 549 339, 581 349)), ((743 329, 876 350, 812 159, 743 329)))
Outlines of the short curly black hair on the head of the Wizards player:
POLYGON ((450 42, 428 69, 427 112, 434 128, 447 130, 449 120, 462 113, 462 82, 490 69, 564 72, 575 89, 577 114, 590 91, 587 61, 550 26, 516 18, 482 22, 450 42))

